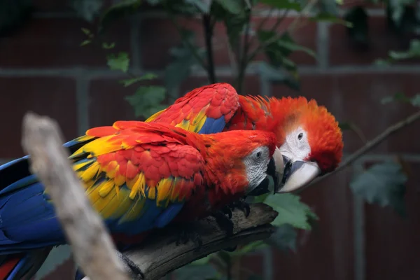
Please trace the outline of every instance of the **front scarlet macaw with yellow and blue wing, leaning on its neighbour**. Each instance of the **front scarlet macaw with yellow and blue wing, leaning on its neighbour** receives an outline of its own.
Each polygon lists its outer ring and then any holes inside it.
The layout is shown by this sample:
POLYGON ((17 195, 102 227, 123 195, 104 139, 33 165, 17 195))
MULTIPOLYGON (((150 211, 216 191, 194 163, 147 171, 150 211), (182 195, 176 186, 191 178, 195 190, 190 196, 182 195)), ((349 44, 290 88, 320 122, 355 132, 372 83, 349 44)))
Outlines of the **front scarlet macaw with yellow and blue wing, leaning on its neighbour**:
MULTIPOLYGON (((119 235, 136 237, 165 227, 184 207, 193 207, 195 215, 178 221, 202 218, 230 197, 253 192, 275 171, 273 156, 281 158, 271 132, 204 135, 137 121, 92 128, 64 146, 118 244, 132 241, 119 235)), ((0 167, 0 279, 29 279, 52 246, 66 243, 48 192, 29 172, 28 160, 0 167)))

